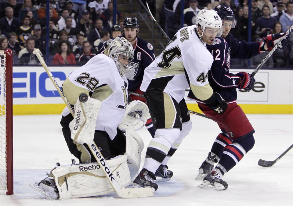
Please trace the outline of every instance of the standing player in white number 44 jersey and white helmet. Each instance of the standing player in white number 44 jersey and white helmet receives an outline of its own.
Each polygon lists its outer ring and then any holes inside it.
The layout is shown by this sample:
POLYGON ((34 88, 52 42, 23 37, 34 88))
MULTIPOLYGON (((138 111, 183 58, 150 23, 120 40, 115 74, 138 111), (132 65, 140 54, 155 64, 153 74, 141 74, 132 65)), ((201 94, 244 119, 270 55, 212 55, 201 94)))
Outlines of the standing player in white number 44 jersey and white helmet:
POLYGON ((145 69, 140 90, 147 99, 156 132, 148 145, 143 168, 133 182, 135 187, 157 190, 153 181, 155 171, 161 164, 167 164, 189 134, 192 123, 184 101, 186 89, 190 88, 215 112, 225 112, 226 101, 208 83, 213 57, 205 47, 221 35, 221 28, 222 20, 215 11, 201 10, 196 25, 177 31, 165 50, 145 69))

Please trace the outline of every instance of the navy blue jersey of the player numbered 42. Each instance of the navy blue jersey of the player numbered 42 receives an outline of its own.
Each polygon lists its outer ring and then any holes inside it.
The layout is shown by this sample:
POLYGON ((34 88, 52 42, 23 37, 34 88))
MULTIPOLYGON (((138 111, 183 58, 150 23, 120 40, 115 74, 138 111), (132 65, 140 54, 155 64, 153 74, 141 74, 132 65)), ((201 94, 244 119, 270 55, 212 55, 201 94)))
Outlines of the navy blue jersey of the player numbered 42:
POLYGON ((241 81, 239 76, 230 73, 231 58, 249 59, 259 54, 260 42, 239 42, 232 34, 215 38, 213 45, 207 45, 214 62, 208 73, 208 81, 215 92, 218 92, 227 103, 237 100, 237 87, 241 81))

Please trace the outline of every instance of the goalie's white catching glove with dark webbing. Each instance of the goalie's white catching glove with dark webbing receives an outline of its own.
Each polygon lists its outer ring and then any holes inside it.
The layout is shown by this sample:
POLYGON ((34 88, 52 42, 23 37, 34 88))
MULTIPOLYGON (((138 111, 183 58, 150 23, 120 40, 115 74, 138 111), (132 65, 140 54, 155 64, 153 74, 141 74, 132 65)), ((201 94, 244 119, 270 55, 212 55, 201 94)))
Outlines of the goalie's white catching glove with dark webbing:
POLYGON ((118 124, 118 128, 125 132, 126 129, 137 131, 147 122, 149 108, 145 103, 139 100, 131 101, 125 110, 122 121, 118 124))

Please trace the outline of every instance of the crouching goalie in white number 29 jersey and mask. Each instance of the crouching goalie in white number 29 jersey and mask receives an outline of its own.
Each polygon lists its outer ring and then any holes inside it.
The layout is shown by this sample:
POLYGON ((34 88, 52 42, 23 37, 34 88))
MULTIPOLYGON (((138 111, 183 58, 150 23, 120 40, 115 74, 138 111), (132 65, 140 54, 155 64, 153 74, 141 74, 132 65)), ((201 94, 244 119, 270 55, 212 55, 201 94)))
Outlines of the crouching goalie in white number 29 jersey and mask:
MULTIPOLYGON (((73 117, 66 107, 62 112, 60 124, 68 149, 78 158, 79 164, 73 162, 71 165, 57 165, 48 175, 53 178, 47 177, 31 184, 34 189, 52 199, 89 197, 114 191, 88 145, 75 141, 74 130, 78 130, 79 126, 88 128, 87 124, 93 125, 93 141, 122 186, 128 186, 131 178, 139 171, 143 142, 133 131, 135 129, 131 130, 133 127, 129 122, 133 119, 125 113, 125 110, 129 111, 128 108, 134 105, 127 105, 126 79, 133 78, 133 70, 129 69, 133 48, 125 38, 117 37, 108 45, 105 54, 98 54, 90 59, 72 72, 62 85, 63 93, 75 112, 73 117), (81 94, 86 94, 84 97, 88 98, 87 102, 92 103, 92 109, 88 109, 89 111, 84 111, 85 107, 79 107, 81 102, 84 102, 81 101, 81 94), (100 109, 90 119, 88 117, 96 108, 95 102, 99 102, 100 109), (81 118, 83 114, 85 117, 81 118), (79 124, 81 119, 86 119, 82 125, 79 124), (121 130, 125 131, 126 136, 121 130)), ((143 127, 148 109, 147 105, 141 104, 146 110, 142 112, 144 122, 140 127, 143 127)), ((77 132, 76 135, 81 133, 77 132)))

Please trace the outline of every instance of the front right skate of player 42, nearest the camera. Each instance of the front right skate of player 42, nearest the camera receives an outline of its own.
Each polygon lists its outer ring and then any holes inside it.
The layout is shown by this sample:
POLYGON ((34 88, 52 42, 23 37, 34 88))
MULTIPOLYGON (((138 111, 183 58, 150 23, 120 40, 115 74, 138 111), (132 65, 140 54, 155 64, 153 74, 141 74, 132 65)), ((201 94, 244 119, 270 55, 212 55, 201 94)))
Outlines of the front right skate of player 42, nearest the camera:
POLYGON ((228 188, 227 182, 222 180, 222 173, 219 169, 213 170, 210 174, 204 177, 204 182, 202 182, 198 188, 204 189, 215 189, 215 190, 225 190, 228 188))

